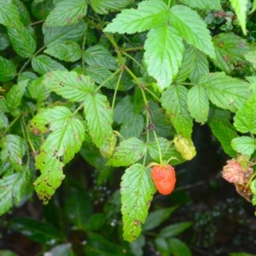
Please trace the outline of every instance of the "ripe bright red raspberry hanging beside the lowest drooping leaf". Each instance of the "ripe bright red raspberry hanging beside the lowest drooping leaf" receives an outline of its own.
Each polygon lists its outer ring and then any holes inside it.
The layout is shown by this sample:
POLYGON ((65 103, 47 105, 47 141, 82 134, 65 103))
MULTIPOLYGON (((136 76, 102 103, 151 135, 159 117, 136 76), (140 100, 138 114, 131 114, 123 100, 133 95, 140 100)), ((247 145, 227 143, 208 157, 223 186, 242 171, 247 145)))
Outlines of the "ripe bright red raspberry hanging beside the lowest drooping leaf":
POLYGON ((175 170, 172 166, 154 166, 151 177, 158 192, 162 195, 169 195, 175 187, 175 170))

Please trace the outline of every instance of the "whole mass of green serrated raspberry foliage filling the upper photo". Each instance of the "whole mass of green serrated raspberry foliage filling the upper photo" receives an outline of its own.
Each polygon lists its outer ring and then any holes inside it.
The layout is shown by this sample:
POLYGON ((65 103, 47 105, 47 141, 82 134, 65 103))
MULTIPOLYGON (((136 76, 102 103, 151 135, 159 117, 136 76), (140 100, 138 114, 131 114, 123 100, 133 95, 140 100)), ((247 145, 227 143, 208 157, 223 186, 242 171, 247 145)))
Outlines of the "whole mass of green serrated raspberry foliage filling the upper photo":
MULTIPOLYGON (((246 34, 247 1, 230 3, 246 34)), ((123 236, 134 241, 156 191, 148 163, 182 163, 172 138, 190 139, 193 122, 226 154, 253 158, 256 49, 212 37, 208 10, 220 1, 0 0, 0 214, 32 183, 47 204, 81 152, 98 183, 127 167, 123 236)))

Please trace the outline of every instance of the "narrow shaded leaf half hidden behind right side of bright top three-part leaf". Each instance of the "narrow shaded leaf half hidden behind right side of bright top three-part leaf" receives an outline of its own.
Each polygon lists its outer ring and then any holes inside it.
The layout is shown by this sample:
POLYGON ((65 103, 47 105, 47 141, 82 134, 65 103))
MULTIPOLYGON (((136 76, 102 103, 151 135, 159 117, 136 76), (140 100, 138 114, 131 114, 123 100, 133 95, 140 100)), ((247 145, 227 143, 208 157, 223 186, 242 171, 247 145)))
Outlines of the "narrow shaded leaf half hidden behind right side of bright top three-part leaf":
POLYGON ((178 70, 177 77, 175 78, 176 84, 181 83, 188 79, 189 74, 192 72, 195 66, 195 60, 197 57, 197 50, 191 44, 186 44, 183 52, 183 61, 181 67, 178 70))

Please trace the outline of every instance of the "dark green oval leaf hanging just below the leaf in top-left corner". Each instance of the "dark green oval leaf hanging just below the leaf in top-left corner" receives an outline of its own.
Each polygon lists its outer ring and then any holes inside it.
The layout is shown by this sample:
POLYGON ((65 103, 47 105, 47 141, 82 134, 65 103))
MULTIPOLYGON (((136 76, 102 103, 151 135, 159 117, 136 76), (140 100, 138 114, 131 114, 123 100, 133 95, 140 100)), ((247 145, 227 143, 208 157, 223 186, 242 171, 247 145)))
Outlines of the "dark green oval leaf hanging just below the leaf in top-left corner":
POLYGON ((37 42, 25 26, 9 27, 8 35, 15 52, 24 58, 30 58, 36 51, 37 42))

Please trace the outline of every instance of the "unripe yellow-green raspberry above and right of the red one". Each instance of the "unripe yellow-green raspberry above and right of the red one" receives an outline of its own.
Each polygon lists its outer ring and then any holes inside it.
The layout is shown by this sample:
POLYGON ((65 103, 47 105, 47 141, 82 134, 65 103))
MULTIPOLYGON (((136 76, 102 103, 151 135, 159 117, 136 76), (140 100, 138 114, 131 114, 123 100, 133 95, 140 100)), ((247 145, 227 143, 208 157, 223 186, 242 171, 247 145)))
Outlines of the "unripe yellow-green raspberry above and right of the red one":
POLYGON ((174 137, 174 146, 184 160, 191 160, 195 157, 195 146, 190 137, 177 136, 174 137))

